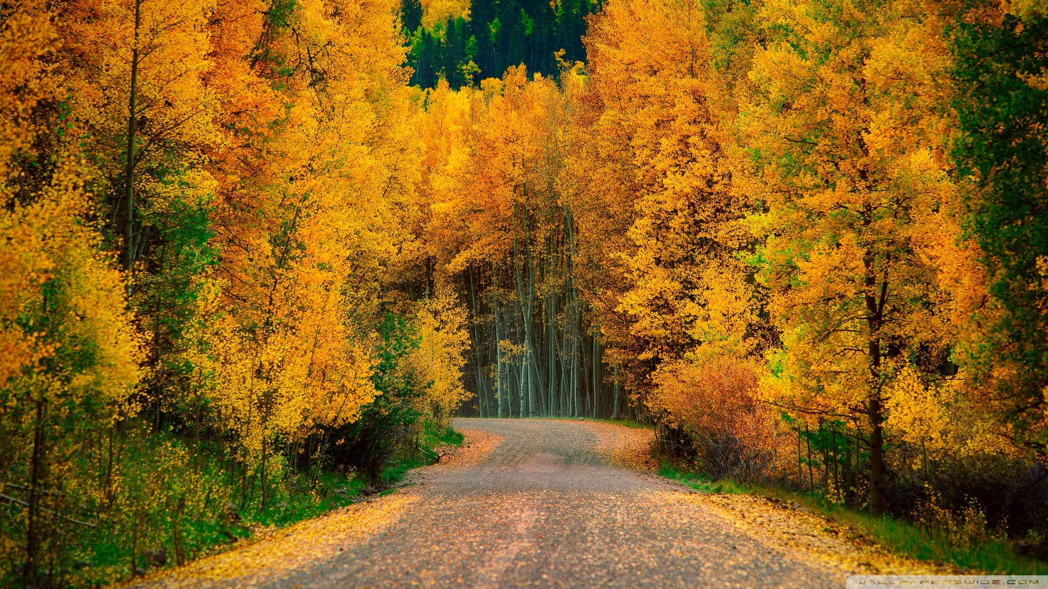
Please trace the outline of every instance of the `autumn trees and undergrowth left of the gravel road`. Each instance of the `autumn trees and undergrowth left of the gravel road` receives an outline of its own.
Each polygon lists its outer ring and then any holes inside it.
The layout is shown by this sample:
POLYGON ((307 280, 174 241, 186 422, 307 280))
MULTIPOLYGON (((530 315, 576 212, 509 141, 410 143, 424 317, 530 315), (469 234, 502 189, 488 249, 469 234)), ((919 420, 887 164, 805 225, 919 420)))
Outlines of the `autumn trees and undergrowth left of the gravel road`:
POLYGON ((386 287, 418 257, 397 8, 0 6, 0 584, 182 563, 446 428, 464 314, 386 287))

